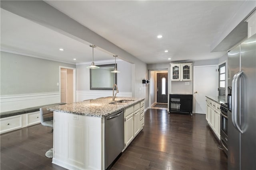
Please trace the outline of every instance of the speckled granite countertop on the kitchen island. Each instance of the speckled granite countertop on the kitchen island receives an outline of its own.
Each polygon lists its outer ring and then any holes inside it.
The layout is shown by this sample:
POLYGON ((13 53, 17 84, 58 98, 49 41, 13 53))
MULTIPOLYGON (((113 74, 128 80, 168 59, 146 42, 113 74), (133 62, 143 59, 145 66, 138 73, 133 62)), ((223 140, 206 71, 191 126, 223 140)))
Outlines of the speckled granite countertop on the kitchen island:
POLYGON ((116 111, 122 110, 126 107, 130 107, 144 99, 141 98, 126 98, 116 97, 115 102, 118 100, 134 100, 128 104, 109 104, 112 102, 112 97, 98 98, 94 100, 86 100, 84 102, 76 102, 65 105, 47 107, 50 111, 60 111, 64 113, 72 113, 77 115, 85 115, 92 117, 106 117, 116 111))

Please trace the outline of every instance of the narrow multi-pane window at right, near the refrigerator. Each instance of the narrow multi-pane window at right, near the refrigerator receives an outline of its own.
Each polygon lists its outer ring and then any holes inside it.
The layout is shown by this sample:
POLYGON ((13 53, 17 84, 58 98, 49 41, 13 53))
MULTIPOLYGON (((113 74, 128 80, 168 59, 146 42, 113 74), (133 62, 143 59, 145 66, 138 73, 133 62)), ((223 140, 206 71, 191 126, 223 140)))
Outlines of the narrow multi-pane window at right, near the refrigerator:
POLYGON ((219 96, 226 96, 226 63, 219 65, 219 96))

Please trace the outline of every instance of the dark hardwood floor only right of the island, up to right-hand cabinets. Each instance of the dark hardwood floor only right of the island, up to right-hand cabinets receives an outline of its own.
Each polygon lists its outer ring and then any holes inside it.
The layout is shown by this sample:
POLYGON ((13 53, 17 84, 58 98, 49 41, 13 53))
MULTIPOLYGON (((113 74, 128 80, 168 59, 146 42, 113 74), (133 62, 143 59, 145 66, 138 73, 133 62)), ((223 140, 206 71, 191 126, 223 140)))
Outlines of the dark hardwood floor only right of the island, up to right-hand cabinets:
POLYGON ((148 109, 144 129, 112 170, 227 170, 227 157, 205 115, 148 109))

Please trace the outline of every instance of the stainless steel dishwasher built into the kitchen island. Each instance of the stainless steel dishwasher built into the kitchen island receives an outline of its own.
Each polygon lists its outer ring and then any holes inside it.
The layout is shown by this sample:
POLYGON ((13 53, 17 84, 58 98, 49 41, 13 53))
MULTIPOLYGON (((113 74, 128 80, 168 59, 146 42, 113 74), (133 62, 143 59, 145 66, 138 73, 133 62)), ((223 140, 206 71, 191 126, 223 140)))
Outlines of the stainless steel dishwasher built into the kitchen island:
POLYGON ((124 149, 124 110, 105 117, 105 169, 124 149))

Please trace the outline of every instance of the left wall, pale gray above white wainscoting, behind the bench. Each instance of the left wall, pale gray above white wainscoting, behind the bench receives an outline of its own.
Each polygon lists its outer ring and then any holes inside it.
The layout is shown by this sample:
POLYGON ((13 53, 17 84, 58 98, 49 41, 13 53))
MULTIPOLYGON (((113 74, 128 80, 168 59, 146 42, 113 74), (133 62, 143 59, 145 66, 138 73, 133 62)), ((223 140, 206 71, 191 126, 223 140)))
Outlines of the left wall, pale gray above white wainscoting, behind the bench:
POLYGON ((0 52, 1 112, 60 102, 60 66, 76 68, 25 55, 0 52))

